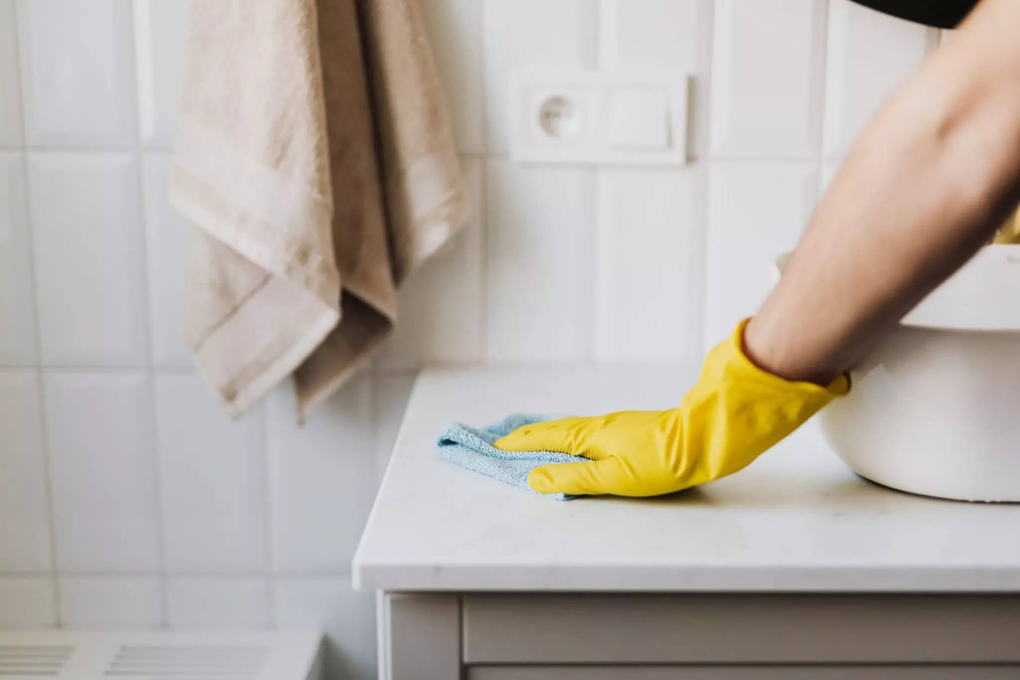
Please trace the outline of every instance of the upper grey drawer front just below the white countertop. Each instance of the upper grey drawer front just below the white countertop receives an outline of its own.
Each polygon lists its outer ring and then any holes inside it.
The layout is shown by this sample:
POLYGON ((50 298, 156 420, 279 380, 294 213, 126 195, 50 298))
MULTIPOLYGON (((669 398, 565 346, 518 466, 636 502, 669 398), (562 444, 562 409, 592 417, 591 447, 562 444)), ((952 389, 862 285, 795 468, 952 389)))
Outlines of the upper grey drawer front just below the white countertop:
POLYGON ((468 664, 1020 663, 1016 595, 500 594, 463 607, 468 664))

